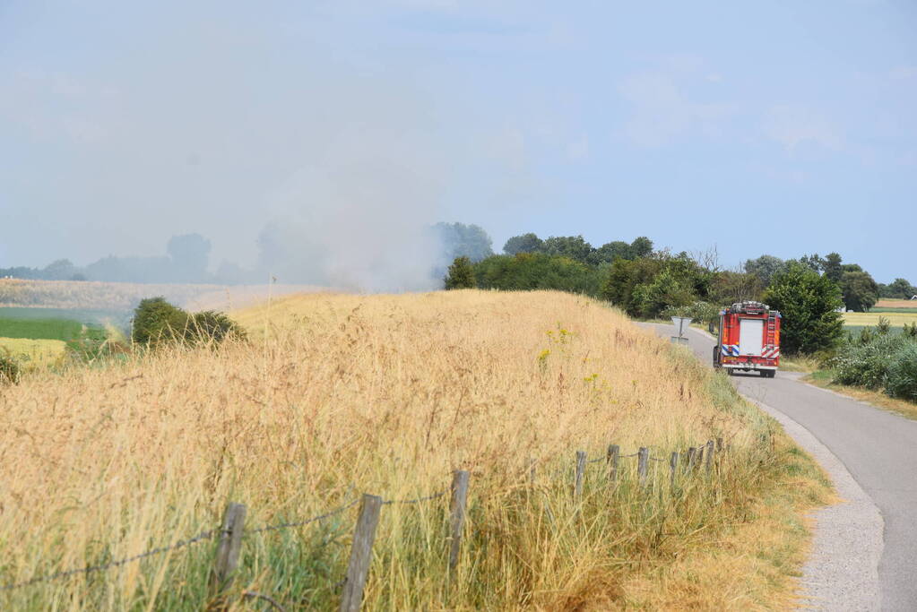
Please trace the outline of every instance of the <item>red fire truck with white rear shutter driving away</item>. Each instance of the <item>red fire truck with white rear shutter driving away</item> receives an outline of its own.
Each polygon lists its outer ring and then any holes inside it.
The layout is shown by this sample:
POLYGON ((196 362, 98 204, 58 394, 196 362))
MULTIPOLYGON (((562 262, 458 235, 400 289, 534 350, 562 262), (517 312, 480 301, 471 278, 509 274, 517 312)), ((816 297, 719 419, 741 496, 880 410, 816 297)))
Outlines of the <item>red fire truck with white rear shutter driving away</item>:
POLYGON ((720 312, 720 333, 713 366, 757 370, 773 378, 780 365, 780 313, 759 301, 740 301, 720 312))

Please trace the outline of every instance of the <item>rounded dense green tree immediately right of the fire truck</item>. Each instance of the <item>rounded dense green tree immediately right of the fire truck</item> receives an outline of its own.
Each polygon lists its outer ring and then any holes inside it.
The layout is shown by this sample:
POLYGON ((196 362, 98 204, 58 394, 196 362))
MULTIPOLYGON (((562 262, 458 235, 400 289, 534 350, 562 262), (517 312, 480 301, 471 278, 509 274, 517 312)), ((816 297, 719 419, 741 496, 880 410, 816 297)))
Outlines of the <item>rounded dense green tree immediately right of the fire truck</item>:
POLYGON ((840 288, 799 262, 790 262, 771 279, 764 301, 783 316, 780 344, 786 353, 828 349, 843 334, 840 288))

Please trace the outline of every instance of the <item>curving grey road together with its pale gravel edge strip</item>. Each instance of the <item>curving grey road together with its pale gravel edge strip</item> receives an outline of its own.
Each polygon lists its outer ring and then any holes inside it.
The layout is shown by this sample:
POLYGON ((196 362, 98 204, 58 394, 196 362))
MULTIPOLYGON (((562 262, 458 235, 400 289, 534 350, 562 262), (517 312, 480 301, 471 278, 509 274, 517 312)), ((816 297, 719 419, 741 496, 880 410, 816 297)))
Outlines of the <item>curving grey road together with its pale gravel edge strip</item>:
MULTIPOLYGON (((672 332, 670 325, 647 326, 667 337, 672 332)), ((713 339, 694 329, 688 335, 691 350, 710 364, 713 339)), ((815 456, 845 500, 816 513, 812 560, 802 579, 806 603, 830 610, 917 610, 917 421, 807 385, 800 376, 731 379, 815 456)))

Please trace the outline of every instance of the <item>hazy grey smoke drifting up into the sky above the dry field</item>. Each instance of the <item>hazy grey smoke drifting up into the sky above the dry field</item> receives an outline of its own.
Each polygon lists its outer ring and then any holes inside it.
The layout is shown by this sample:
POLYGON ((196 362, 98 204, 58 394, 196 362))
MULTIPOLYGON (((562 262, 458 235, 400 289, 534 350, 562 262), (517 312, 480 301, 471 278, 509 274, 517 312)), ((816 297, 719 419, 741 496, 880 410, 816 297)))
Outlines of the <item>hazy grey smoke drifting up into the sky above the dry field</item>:
MULTIPOLYGON (((327 38, 339 16, 324 10, 105 3, 87 19, 61 5, 54 20, 80 27, 55 44, 78 53, 0 57, 0 132, 30 144, 0 170, 16 177, 3 220, 43 237, 9 233, 0 268, 116 255, 137 270, 197 233, 217 276, 435 287, 426 228, 448 164, 434 104, 407 62, 327 38)), ((28 37, 36 19, 50 17, 24 4, 5 27, 28 37)))

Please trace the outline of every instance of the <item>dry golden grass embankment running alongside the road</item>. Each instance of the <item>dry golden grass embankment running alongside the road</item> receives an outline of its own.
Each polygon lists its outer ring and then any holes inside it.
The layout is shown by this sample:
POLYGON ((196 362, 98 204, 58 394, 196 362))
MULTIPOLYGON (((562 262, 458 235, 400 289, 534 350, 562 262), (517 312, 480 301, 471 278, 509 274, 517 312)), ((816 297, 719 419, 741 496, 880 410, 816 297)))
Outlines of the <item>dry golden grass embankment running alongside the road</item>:
MULTIPOLYGON (((238 313, 252 344, 34 373, 0 395, 0 583, 214 529, 308 518, 472 473, 447 588, 447 499, 382 508, 367 609, 786 608, 812 461, 725 377, 596 301, 554 292, 313 295, 238 313), (265 322, 270 325, 265 326, 265 322), (609 486, 576 450, 668 458, 723 437, 712 478, 635 459, 609 486), (536 461, 536 487, 528 485, 536 461)), ((233 593, 331 609, 353 511, 246 536, 233 593)), ((121 570, 0 593, 6 609, 201 609, 208 541, 121 570)), ((234 607, 246 605, 233 599, 234 607)))

